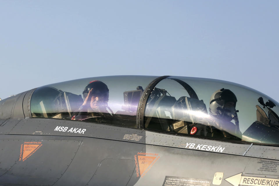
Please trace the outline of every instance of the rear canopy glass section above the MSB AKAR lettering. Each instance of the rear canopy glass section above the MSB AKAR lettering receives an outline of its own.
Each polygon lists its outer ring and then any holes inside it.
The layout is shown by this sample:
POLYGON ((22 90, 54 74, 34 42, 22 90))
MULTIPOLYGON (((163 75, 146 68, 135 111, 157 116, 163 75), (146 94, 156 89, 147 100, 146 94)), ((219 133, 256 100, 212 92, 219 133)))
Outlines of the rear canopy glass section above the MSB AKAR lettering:
POLYGON ((98 122, 136 128, 137 106, 156 76, 105 76, 39 87, 32 117, 98 122))

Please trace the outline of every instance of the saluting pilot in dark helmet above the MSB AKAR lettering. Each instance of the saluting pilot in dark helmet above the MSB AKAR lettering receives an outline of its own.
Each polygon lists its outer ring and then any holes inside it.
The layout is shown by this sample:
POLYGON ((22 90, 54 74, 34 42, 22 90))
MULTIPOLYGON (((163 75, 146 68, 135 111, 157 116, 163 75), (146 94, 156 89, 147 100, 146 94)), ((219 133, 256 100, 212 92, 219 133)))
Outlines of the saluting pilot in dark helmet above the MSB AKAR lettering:
POLYGON ((83 91, 83 104, 75 112, 71 120, 84 120, 95 117, 112 116, 112 110, 108 107, 108 86, 98 80, 91 81, 83 91))

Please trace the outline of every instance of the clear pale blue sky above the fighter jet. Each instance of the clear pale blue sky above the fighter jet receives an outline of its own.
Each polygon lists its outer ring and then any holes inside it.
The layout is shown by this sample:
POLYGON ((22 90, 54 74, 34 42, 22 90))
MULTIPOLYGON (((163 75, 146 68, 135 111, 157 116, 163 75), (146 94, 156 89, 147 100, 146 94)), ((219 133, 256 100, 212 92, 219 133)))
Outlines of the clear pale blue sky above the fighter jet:
POLYGON ((175 75, 279 101, 279 1, 0 1, 0 97, 77 78, 175 75))

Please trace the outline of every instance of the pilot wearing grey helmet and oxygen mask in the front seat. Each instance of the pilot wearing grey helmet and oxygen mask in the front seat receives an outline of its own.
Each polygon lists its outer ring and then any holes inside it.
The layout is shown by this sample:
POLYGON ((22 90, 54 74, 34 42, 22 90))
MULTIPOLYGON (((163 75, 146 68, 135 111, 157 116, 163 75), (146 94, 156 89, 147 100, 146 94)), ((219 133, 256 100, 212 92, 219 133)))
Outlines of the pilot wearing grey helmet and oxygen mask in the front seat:
POLYGON ((194 124, 190 134, 221 139, 241 138, 236 102, 237 98, 231 90, 222 88, 215 91, 210 98, 210 117, 194 124))

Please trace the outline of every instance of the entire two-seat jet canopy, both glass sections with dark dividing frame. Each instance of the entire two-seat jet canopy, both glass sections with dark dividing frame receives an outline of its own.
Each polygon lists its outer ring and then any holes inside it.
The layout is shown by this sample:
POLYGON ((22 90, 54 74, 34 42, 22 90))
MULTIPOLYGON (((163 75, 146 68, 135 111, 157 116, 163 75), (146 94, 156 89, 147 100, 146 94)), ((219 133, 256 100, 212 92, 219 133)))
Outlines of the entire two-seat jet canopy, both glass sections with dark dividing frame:
POLYGON ((226 81, 105 76, 37 88, 31 115, 218 141, 279 144, 279 103, 226 81))

